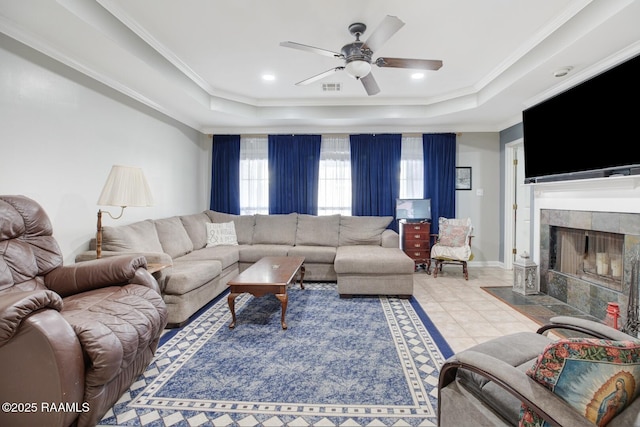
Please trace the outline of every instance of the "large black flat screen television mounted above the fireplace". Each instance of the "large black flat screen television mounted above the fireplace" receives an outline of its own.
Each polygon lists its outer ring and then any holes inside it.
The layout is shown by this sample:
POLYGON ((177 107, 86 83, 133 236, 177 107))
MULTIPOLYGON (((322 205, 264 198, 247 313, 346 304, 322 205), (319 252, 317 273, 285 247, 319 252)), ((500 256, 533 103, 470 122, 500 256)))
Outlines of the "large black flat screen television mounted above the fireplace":
POLYGON ((522 113, 525 183, 640 174, 640 56, 522 113))

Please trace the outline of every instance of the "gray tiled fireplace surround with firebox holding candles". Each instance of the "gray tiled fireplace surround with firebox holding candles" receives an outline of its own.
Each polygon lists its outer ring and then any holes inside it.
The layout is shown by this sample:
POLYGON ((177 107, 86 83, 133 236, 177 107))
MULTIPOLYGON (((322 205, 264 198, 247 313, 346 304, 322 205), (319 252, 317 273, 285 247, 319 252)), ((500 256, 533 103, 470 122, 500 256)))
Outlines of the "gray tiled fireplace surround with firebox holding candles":
POLYGON ((639 254, 638 213, 540 210, 540 291, 591 316, 616 302, 625 325, 639 254))

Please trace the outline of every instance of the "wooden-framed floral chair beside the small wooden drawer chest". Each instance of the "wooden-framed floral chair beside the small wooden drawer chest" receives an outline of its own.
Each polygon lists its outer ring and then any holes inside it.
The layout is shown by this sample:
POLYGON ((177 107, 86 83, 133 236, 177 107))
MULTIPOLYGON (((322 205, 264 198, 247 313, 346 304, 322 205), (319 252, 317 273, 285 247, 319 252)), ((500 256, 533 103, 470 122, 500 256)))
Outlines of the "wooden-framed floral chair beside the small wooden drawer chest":
POLYGON ((469 280, 467 261, 473 259, 472 231, 471 218, 439 218, 438 234, 433 235, 436 243, 431 247, 431 263, 435 265, 433 277, 442 272, 443 264, 458 264, 462 265, 464 278, 469 280))

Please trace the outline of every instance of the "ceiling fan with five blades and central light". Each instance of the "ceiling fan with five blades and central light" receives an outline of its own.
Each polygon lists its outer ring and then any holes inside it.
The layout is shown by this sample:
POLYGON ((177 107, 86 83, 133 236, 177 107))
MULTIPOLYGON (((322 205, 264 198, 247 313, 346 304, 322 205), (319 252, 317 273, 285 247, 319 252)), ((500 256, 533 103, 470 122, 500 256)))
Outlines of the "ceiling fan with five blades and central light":
POLYGON ((360 36, 365 32, 367 26, 360 22, 351 24, 349 25, 349 32, 356 38, 356 41, 342 46, 340 53, 291 41, 281 42, 280 46, 332 56, 334 58, 344 59, 345 61, 344 66, 335 67, 313 77, 309 77, 296 83, 296 85, 307 85, 323 79, 336 71, 345 70, 347 74, 360 80, 364 89, 367 91, 367 95, 371 96, 380 92, 378 83, 371 73, 371 64, 375 64, 378 67, 413 68, 419 70, 438 70, 442 67, 442 61, 433 59, 377 58, 376 60, 372 60, 373 53, 382 47, 382 45, 403 26, 404 22, 398 17, 387 15, 380 25, 373 30, 373 33, 371 33, 367 41, 361 42, 360 36))

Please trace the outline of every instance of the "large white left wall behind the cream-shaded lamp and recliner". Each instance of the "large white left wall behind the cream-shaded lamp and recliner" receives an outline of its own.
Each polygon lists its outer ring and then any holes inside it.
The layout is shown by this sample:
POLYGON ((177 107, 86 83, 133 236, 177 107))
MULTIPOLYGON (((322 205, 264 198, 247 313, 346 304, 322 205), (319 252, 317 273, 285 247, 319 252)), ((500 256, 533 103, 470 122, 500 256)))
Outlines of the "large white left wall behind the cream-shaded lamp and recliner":
POLYGON ((0 64, 0 194, 44 207, 65 264, 95 234, 114 164, 144 170, 155 206, 105 226, 208 208, 210 138, 1 34, 0 64))

